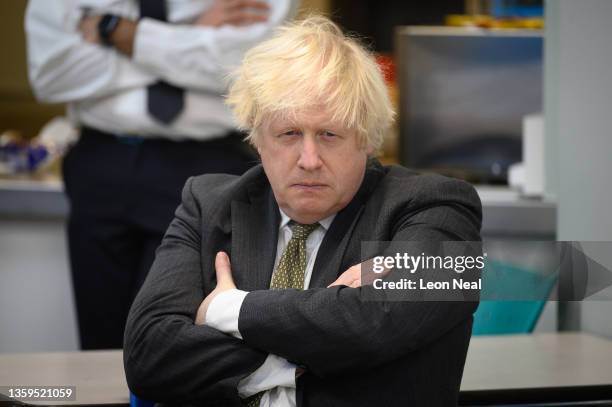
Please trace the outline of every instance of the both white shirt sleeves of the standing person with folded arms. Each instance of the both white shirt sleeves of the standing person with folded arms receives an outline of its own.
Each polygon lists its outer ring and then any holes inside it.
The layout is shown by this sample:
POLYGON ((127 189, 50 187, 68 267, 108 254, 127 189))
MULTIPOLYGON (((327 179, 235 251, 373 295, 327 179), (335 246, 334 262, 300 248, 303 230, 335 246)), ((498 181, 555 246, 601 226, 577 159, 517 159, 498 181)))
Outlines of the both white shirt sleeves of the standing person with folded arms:
MULTIPOLYGON (((28 4, 29 76, 41 100, 72 102, 104 97, 160 78, 190 89, 222 92, 228 69, 294 9, 290 0, 273 0, 265 23, 244 27, 177 25, 145 18, 138 24, 134 55, 129 58, 114 48, 83 40, 79 31, 84 16, 81 3, 31 0, 28 4)), ((108 3, 110 7, 112 2, 108 3)), ((113 10, 101 7, 89 12, 113 10)))

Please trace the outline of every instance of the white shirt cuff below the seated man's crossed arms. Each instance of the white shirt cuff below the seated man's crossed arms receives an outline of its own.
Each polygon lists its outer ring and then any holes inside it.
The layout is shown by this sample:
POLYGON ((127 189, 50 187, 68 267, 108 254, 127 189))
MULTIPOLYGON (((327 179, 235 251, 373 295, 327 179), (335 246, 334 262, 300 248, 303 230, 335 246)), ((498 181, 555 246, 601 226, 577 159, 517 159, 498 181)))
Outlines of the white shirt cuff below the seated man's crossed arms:
POLYGON ((295 369, 296 366, 286 359, 277 355, 268 355, 257 370, 238 383, 238 394, 246 398, 275 387, 295 389, 295 369))

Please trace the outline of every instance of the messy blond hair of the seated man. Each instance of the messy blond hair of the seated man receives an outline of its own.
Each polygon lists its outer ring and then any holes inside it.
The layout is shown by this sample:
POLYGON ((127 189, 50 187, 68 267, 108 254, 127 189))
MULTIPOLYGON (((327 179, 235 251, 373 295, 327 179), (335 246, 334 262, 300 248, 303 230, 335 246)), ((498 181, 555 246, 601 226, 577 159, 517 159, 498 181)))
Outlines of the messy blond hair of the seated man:
POLYGON ((249 50, 226 103, 253 145, 265 118, 323 104, 332 120, 356 130, 362 147, 377 150, 394 117, 372 54, 321 16, 279 27, 249 50))

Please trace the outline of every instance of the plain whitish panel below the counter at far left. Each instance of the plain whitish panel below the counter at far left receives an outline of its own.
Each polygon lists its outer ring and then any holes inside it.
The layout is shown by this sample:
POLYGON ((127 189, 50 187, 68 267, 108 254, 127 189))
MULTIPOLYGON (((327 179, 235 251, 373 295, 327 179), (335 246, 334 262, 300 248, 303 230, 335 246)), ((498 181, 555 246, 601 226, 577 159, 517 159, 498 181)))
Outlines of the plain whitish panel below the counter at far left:
POLYGON ((64 224, 0 219, 0 352, 78 350, 64 224))

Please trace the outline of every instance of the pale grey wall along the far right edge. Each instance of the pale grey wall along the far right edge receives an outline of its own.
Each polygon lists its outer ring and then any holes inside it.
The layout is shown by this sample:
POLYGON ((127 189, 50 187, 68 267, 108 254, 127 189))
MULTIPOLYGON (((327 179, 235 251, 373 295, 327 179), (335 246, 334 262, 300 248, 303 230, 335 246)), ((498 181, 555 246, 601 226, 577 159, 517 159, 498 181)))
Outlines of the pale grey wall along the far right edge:
MULTIPOLYGON (((549 0, 546 14, 547 189, 558 239, 612 241, 612 1, 549 0)), ((612 302, 569 308, 583 330, 612 337, 612 302)))

